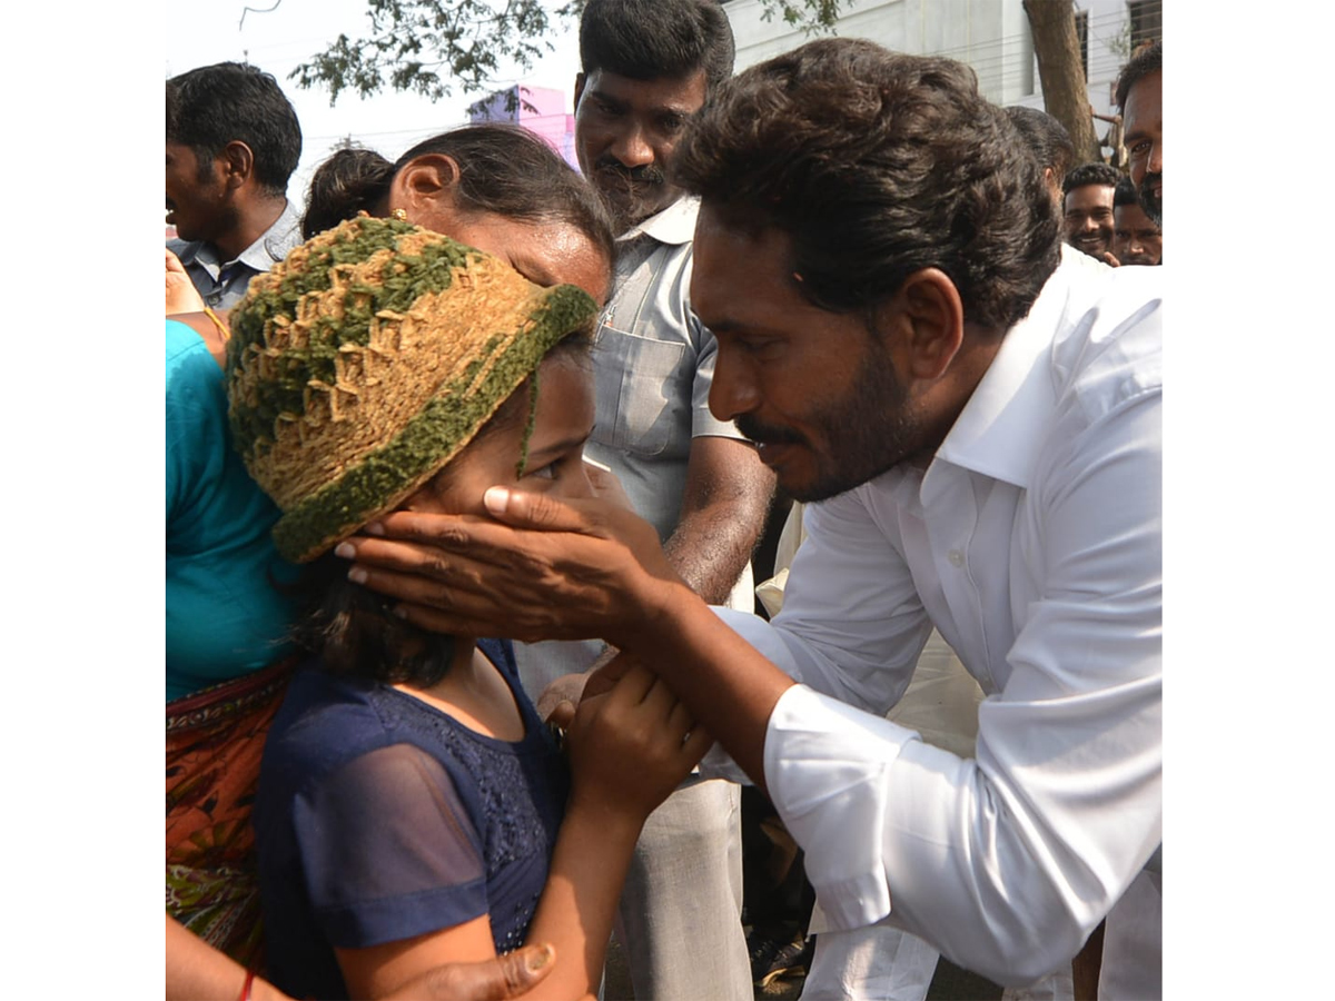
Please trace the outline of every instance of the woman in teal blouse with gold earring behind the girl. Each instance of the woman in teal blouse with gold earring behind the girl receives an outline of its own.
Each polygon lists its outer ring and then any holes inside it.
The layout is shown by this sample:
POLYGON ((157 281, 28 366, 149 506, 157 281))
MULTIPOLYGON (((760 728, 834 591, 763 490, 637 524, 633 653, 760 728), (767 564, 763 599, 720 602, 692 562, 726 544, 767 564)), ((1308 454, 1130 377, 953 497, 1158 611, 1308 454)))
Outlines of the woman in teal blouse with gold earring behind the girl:
MULTIPOLYGON (((323 212, 334 226, 359 210, 449 232, 491 250, 543 284, 570 282, 594 298, 607 290, 613 235, 597 194, 542 140, 517 127, 451 129, 396 164, 366 151, 340 151, 316 172, 308 211, 323 212)), ((202 310, 203 303, 192 308, 202 310)), ((570 308, 569 302, 561 308, 570 308)), ((260 749, 294 665, 304 657, 288 655, 295 649, 296 607, 294 595, 274 583, 290 583, 300 567, 278 557, 270 530, 282 511, 255 486, 232 448, 223 372, 215 363, 224 351, 226 323, 203 312, 179 318, 190 326, 171 319, 167 997, 235 998, 244 968, 263 970, 251 825, 260 749)), ((316 338, 316 355, 323 343, 316 338)), ((529 363, 513 352, 505 358, 511 366, 529 363)), ((426 362, 438 363, 446 362, 426 362)), ((344 374, 335 400, 343 399, 351 378, 344 374)), ((498 384, 486 383, 489 391, 498 384)), ((485 431, 479 440, 487 436, 485 431)), ((535 475, 541 475, 537 467, 535 475)), ((578 962, 579 950, 562 956, 578 962)), ((439 990, 449 993, 441 985, 450 982, 430 978, 435 986, 427 989, 414 981, 405 996, 441 996, 439 990)), ((263 980, 247 986, 256 998, 275 994, 263 980)))

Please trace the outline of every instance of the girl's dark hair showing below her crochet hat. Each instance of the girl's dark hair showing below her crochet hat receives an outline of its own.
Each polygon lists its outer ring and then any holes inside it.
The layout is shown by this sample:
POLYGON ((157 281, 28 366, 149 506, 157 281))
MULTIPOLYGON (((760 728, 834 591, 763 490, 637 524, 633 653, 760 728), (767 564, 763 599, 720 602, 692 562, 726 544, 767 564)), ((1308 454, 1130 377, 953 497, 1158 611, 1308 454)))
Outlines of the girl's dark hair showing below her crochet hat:
MULTIPOLYGON (((543 356, 587 363, 590 332, 562 338, 543 356)), ((454 462, 477 442, 497 431, 531 420, 538 374, 530 375, 506 398, 454 462)), ((446 466, 437 475, 449 475, 446 466)), ((303 569, 295 591, 311 611, 294 630, 298 646, 320 658, 339 677, 364 678, 384 685, 430 687, 450 670, 454 637, 427 633, 395 617, 392 601, 347 579, 347 561, 326 553, 303 569)))

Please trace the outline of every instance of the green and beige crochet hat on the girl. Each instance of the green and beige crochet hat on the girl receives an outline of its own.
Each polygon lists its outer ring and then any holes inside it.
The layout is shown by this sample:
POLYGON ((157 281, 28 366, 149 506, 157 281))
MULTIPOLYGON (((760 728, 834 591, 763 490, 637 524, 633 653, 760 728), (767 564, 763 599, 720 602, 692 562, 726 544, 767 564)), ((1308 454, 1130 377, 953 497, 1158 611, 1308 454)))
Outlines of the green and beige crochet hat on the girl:
POLYGON ((429 230, 358 216, 258 275, 231 314, 232 442, 307 562, 466 446, 597 304, 429 230))

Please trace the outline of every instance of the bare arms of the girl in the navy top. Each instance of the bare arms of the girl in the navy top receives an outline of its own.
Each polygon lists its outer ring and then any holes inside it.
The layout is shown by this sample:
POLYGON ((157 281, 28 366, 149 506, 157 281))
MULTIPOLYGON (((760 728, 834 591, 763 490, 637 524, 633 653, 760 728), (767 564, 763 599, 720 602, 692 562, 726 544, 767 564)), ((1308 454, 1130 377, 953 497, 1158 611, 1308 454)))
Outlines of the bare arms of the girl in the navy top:
MULTIPOLYGON (((629 671, 586 698, 570 729, 573 789, 529 941, 551 942, 541 996, 579 998, 598 988, 611 921, 645 818, 689 774, 710 743, 650 671, 629 671)), ((446 962, 494 956, 483 916, 417 938, 336 950, 354 997, 384 997, 446 962)), ((526 994, 527 996, 527 994, 526 994)))

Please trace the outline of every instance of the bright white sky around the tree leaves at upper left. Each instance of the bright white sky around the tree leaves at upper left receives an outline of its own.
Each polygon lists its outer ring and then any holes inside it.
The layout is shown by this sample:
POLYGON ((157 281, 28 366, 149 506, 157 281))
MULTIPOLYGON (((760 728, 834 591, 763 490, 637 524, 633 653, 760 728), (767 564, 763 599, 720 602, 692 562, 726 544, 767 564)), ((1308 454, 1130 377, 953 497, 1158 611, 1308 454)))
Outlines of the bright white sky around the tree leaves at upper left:
MULTIPOLYGON (((311 172, 343 137, 352 136, 392 160, 419 139, 466 121, 469 104, 481 96, 455 91, 433 104, 388 89, 366 100, 344 91, 331 108, 327 91, 303 91, 287 75, 340 32, 364 37, 371 25, 367 0, 280 0, 272 11, 264 8, 272 8, 274 0, 251 0, 250 7, 242 0, 174 0, 166 19, 164 76, 224 60, 248 60, 272 73, 302 123, 302 161, 288 184, 288 196, 298 202, 311 172)), ((527 73, 513 68, 517 75, 498 79, 497 87, 551 87, 563 91, 569 104, 579 71, 575 25, 554 21, 550 41, 554 52, 527 73)))

